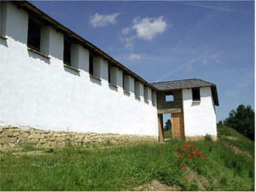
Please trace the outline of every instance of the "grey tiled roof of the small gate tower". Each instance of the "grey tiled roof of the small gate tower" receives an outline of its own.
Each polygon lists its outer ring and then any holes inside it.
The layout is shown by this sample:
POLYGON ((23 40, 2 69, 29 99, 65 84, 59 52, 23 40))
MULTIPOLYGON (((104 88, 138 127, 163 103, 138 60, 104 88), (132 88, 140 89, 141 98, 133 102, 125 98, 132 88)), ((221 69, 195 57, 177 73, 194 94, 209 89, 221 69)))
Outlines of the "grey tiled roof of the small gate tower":
POLYGON ((177 81, 156 82, 151 84, 154 87, 156 87, 158 90, 163 92, 168 92, 170 90, 180 90, 183 88, 197 88, 197 87, 211 86, 212 96, 214 98, 214 104, 216 106, 219 105, 216 85, 213 83, 204 81, 202 79, 184 79, 184 80, 177 80, 177 81))

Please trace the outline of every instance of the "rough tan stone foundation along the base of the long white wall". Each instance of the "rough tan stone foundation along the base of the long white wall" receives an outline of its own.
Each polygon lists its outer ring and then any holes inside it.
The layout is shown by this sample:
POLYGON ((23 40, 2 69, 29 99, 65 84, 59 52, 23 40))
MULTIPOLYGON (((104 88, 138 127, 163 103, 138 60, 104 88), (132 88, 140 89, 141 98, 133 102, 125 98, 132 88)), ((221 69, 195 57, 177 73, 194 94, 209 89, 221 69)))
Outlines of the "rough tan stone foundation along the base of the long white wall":
POLYGON ((157 141, 154 136, 127 134, 99 134, 96 132, 45 131, 42 129, 0 126, 0 150, 19 150, 29 144, 37 148, 56 148, 66 145, 89 146, 104 143, 127 143, 129 141, 157 141))

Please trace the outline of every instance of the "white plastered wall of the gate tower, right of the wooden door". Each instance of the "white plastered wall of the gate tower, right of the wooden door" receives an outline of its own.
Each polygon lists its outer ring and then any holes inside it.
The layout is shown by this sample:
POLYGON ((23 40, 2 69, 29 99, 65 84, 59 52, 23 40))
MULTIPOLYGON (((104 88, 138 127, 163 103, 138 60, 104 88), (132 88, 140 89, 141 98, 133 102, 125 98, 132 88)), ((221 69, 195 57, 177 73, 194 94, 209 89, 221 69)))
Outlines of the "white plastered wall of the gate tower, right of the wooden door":
POLYGON ((193 102, 191 88, 183 89, 182 95, 185 136, 196 137, 206 134, 217 136, 211 87, 200 88, 200 102, 193 102))

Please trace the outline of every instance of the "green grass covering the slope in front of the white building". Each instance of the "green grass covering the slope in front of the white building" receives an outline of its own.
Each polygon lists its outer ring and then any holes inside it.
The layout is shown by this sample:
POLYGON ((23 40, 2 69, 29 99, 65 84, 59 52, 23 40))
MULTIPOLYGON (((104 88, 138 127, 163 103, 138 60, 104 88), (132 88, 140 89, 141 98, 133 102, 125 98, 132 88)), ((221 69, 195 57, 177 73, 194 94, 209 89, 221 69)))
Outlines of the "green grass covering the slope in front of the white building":
POLYGON ((216 142, 170 140, 113 148, 67 147, 45 150, 38 156, 2 152, 0 190, 132 191, 157 179, 184 191, 254 191, 253 141, 224 126, 218 127, 218 134, 216 142), (177 153, 186 145, 193 150, 195 144, 200 156, 177 153))

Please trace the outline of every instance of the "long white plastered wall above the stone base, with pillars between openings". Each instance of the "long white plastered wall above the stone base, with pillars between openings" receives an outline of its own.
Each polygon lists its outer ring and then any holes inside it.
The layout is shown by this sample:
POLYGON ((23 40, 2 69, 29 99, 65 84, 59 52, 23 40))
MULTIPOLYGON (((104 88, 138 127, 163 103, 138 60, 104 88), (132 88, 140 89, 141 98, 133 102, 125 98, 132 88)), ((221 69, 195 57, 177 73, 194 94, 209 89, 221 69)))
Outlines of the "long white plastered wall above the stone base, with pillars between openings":
MULTIPOLYGON (((51 59, 27 49, 28 13, 7 5, 6 37, 0 44, 0 123, 40 129, 113 132, 158 136, 157 108, 122 88, 122 70, 115 69, 118 88, 108 84, 108 61, 95 58, 88 73, 89 51, 72 45, 71 63, 63 66, 63 34, 44 27, 45 48, 51 59)), ((132 85, 133 83, 133 85, 132 85)), ((143 88, 143 84, 141 84, 143 88)), ((142 90, 143 93, 143 90, 142 90)))

